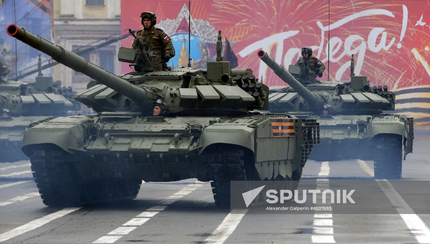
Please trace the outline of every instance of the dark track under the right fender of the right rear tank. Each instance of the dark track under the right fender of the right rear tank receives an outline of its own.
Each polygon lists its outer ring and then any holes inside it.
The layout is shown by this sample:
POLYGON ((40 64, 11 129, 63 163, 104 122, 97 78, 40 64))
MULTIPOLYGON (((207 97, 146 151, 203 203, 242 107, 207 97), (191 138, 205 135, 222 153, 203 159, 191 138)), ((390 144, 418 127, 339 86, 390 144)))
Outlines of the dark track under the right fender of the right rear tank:
POLYGON ((384 135, 375 139, 375 179, 402 178, 402 137, 384 135))

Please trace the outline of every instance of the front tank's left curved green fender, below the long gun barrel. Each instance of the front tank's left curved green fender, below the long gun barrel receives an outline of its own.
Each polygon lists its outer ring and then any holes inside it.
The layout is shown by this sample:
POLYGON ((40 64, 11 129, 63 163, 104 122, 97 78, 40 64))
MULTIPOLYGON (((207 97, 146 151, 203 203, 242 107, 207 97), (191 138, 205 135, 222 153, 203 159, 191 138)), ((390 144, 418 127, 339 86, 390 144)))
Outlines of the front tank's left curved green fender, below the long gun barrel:
POLYGON ((69 124, 63 128, 49 128, 44 125, 39 124, 25 131, 21 149, 27 156, 31 153, 31 145, 54 144, 71 154, 80 148, 79 142, 85 136, 82 124, 69 124))

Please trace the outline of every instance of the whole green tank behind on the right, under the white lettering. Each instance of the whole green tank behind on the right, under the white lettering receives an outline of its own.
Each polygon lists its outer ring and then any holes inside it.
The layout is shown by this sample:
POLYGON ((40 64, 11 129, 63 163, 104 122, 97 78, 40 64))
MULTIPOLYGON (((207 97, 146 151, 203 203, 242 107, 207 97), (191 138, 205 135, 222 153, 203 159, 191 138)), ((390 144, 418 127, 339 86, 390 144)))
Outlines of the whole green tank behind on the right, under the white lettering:
POLYGON ((306 79, 313 77, 309 69, 290 65, 286 71, 263 50, 258 56, 289 84, 270 91, 270 111, 319 122, 321 143, 313 149, 311 159, 372 160, 375 178, 401 178, 402 160, 412 152, 413 118, 384 114, 394 110, 396 95, 387 86, 371 87, 366 76, 356 76, 353 56, 350 80, 314 84, 306 79))

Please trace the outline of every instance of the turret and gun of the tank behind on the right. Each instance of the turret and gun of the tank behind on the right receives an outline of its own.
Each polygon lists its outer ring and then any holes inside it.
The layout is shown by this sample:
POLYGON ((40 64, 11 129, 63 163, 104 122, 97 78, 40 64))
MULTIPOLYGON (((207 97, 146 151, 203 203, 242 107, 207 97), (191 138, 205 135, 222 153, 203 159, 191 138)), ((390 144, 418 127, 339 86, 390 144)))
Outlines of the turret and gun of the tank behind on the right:
POLYGON ((394 110, 395 95, 387 86, 372 89, 366 76, 354 74, 354 59, 351 59, 351 79, 347 81, 327 81, 303 85, 295 79, 299 68, 289 66, 286 71, 263 50, 258 57, 273 69, 275 74, 289 84, 282 90, 270 94, 270 111, 289 113, 322 114, 324 106, 330 114, 381 114, 384 110, 394 110), (294 76, 293 76, 294 74, 294 76))

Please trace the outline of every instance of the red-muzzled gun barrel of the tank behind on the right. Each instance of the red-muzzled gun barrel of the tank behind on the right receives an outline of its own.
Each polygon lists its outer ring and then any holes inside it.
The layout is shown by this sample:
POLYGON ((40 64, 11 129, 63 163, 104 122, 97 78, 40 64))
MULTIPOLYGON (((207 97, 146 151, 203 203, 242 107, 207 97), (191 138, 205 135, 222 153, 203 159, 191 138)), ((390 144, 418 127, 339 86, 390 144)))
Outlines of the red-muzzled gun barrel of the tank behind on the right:
POLYGON ((263 50, 258 51, 258 57, 269 66, 275 74, 281 78, 285 83, 289 84, 296 93, 298 93, 310 106, 318 105, 318 97, 306 89, 298 80, 296 80, 283 66, 275 62, 270 56, 263 50))

